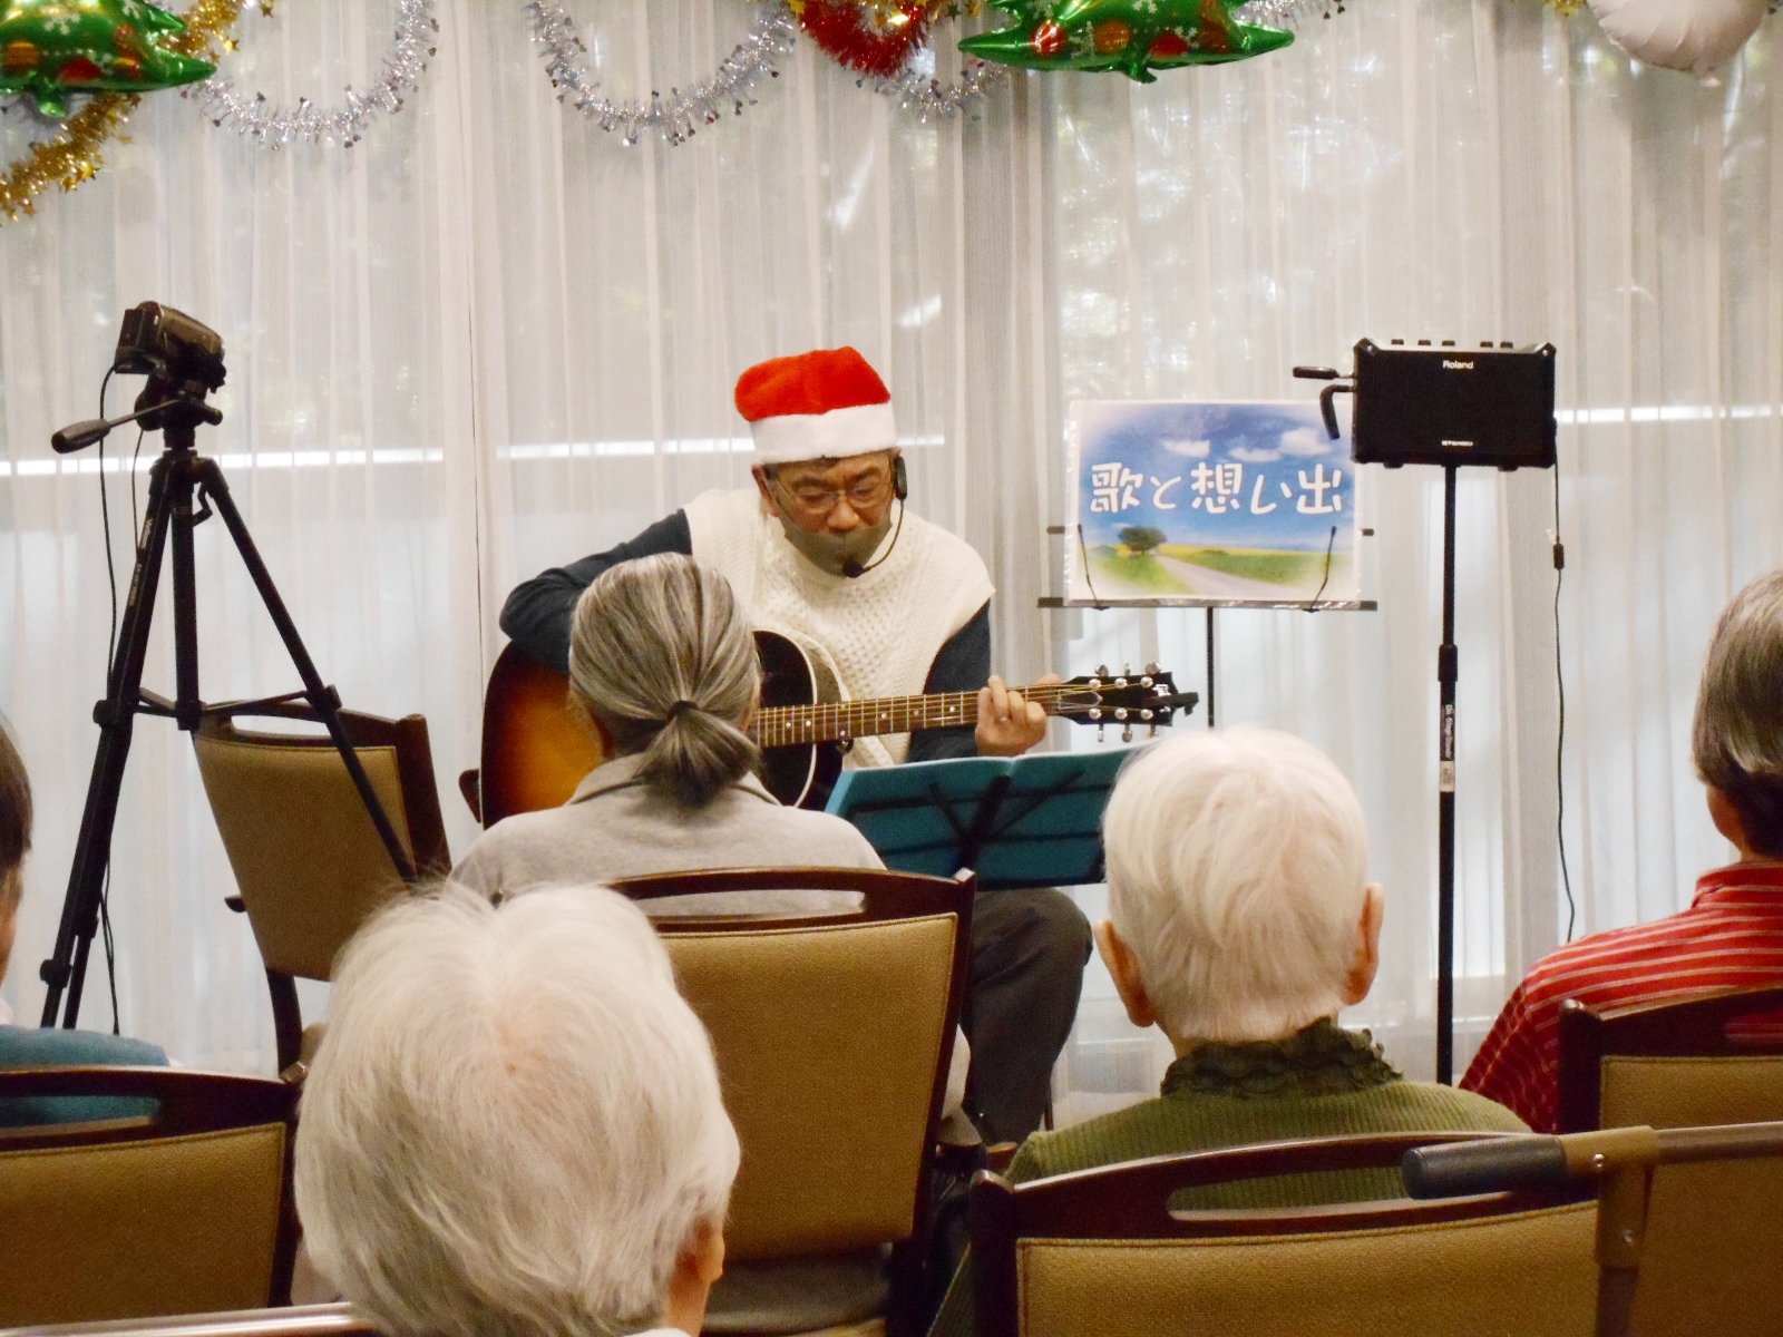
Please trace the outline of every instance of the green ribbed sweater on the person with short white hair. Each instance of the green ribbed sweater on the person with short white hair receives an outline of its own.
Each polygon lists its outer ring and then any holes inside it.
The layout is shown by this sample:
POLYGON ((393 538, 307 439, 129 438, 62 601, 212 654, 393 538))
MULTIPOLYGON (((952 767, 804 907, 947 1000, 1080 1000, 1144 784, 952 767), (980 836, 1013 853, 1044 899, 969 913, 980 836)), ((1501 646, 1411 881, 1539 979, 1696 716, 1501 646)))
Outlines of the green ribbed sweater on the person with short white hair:
MULTIPOLYGON (((1250 1146, 1357 1132, 1528 1132, 1471 1091, 1407 1082, 1366 1030, 1318 1021, 1286 1041, 1200 1045, 1170 1064, 1163 1093, 1130 1109, 1029 1137, 1009 1164, 1016 1184, 1214 1146, 1250 1146)), ((1400 1198, 1398 1169, 1282 1175, 1191 1189, 1184 1209, 1311 1207, 1400 1198)), ((931 1337, 972 1332, 972 1259, 949 1287, 931 1337)))

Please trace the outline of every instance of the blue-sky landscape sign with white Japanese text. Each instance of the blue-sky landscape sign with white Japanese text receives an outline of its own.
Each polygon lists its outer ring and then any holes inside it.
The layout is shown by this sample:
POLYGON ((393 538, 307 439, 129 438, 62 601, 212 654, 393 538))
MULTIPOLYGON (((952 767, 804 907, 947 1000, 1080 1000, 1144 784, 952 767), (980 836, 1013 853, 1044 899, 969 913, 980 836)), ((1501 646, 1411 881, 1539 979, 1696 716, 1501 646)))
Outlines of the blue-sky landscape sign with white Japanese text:
POLYGON ((1355 465, 1316 403, 1079 399, 1068 603, 1359 597, 1355 465))

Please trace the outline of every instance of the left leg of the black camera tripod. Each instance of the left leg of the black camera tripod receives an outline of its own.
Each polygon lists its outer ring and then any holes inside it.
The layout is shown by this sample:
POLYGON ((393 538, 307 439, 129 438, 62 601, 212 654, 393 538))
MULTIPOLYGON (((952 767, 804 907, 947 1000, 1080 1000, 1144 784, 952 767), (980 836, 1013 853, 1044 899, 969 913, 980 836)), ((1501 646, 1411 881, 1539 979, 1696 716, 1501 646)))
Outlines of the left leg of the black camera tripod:
POLYGON ((130 576, 130 597, 125 604, 123 627, 112 652, 107 674, 105 699, 93 708, 100 726, 100 745, 93 756, 93 777, 87 781, 87 806, 80 816, 80 838, 75 843, 75 863, 68 872, 68 895, 62 898, 62 922, 55 931, 55 952, 43 963, 39 975, 48 986, 43 1002, 43 1025, 57 1023, 62 1007, 62 989, 68 989, 68 1013, 62 1025, 73 1029, 80 1014, 80 988, 86 980, 87 950, 98 931, 100 898, 105 893, 105 868, 111 865, 111 834, 118 820, 118 793, 123 788, 123 767, 130 756, 130 736, 136 713, 143 701, 143 661, 148 658, 148 629, 155 617, 155 586, 160 583, 160 560, 168 547, 168 529, 177 504, 191 508, 191 480, 171 467, 173 458, 162 456, 150 469, 148 512, 143 517, 143 535, 136 549, 136 570, 130 576), (169 483, 169 474, 173 481, 169 483))

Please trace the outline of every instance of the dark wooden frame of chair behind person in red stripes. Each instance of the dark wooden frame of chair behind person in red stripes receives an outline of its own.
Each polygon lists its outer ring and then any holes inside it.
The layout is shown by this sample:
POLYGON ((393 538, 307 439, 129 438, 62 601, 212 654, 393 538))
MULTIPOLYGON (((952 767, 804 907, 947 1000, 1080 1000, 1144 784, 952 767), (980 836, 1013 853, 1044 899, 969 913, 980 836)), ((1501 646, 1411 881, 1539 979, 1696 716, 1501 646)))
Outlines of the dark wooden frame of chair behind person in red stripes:
POLYGON ((1730 1021, 1779 1009, 1783 984, 1664 998, 1601 1013, 1576 998, 1564 1000, 1558 1032, 1560 1132, 1598 1127, 1606 1057, 1783 1055, 1783 1041, 1747 1041, 1728 1034, 1730 1021))

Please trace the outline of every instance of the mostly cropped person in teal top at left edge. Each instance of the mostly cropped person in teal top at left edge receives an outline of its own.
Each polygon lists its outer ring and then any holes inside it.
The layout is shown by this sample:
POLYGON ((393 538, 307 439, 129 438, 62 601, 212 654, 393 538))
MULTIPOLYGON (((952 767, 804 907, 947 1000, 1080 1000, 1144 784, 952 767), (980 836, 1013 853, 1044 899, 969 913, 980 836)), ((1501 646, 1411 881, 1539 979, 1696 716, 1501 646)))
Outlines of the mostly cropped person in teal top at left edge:
MULTIPOLYGON (((25 854, 30 850, 30 779, 12 736, 0 726, 0 979, 5 979, 18 904, 25 895, 25 854)), ((4 1018, 0 1018, 4 1021, 4 1018)), ((160 1066, 168 1061, 141 1039, 61 1027, 0 1023, 0 1068, 160 1066)), ((0 1127, 70 1123, 128 1114, 137 1102, 116 1100, 0 1100, 0 1127)))

